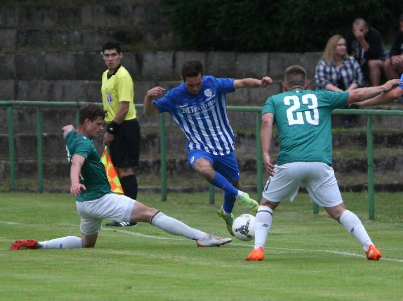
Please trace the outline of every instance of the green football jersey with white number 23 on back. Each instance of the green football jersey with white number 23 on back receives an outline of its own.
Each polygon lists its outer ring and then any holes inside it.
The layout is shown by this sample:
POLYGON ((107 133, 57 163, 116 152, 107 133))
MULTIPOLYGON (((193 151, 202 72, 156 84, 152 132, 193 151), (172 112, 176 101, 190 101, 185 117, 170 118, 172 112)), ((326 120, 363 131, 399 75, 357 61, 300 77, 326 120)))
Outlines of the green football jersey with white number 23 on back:
POLYGON ((331 165, 331 111, 346 105, 349 92, 293 89, 267 98, 262 115, 273 113, 280 152, 277 164, 324 162, 331 165))

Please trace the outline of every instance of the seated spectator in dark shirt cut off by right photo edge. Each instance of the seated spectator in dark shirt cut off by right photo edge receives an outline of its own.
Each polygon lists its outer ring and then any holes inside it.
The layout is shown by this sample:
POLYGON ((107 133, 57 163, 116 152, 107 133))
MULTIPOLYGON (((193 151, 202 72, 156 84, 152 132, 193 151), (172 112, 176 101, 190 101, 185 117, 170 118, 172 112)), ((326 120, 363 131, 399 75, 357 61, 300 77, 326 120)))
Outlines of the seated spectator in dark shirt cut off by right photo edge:
POLYGON ((389 58, 385 60, 383 67, 387 79, 397 78, 403 73, 403 14, 400 15, 399 29, 394 36, 389 58))

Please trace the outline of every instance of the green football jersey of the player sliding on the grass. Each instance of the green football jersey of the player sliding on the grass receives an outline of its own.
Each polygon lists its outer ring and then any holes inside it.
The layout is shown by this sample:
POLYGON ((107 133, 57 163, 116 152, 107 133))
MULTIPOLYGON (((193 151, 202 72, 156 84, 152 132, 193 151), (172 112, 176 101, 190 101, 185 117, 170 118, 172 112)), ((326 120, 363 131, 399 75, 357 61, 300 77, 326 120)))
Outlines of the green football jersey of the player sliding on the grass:
POLYGON ((77 135, 77 130, 69 132, 64 137, 66 143, 67 159, 72 163, 74 155, 80 155, 85 158, 81 167, 80 183, 87 189, 81 190, 81 194, 76 197, 78 202, 94 200, 112 193, 108 178, 106 177, 105 167, 101 162, 94 143, 91 138, 84 135, 77 135))

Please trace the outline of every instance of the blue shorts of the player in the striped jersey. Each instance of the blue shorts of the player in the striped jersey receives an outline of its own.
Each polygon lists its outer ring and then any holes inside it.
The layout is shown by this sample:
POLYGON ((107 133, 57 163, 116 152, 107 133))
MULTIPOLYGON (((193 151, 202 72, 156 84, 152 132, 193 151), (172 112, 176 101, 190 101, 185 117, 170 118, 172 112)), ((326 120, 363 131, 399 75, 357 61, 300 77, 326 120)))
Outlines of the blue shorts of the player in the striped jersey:
POLYGON ((211 164, 213 164, 214 170, 227 180, 231 182, 239 180, 239 166, 235 158, 235 152, 231 152, 228 155, 217 156, 199 149, 188 151, 187 160, 192 167, 198 158, 209 160, 211 164))

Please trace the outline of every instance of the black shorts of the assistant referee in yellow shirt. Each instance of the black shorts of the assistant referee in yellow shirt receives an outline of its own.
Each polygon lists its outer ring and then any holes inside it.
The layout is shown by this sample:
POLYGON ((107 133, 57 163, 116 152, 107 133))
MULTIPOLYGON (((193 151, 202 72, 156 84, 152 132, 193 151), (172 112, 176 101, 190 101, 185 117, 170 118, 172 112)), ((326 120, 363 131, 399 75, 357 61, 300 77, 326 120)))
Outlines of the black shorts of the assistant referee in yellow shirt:
POLYGON ((136 118, 120 124, 109 150, 115 167, 139 166, 140 125, 136 118))

